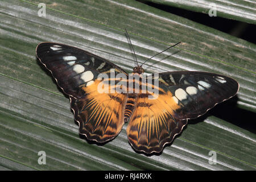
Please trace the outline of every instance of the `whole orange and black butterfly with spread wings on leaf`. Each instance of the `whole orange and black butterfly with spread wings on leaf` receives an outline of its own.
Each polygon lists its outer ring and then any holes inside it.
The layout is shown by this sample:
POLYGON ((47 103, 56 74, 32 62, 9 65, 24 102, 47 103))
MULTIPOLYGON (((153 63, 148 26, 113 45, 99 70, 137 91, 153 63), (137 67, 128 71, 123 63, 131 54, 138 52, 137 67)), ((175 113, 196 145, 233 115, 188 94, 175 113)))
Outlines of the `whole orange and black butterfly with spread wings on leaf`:
POLYGON ((205 114, 236 95, 239 89, 233 78, 195 71, 159 73, 151 76, 154 82, 145 82, 141 77, 142 65, 128 74, 102 57, 59 43, 40 43, 36 56, 69 96, 80 134, 104 143, 115 138, 124 123, 129 122, 129 143, 146 154, 161 152, 165 144, 181 133, 188 119, 205 114), (113 78, 113 73, 122 77, 113 78), (108 77, 99 79, 102 74, 108 77), (137 90, 135 84, 139 85, 137 90), (120 85, 122 89, 131 86, 131 92, 116 92, 120 85), (102 86, 106 86, 105 92, 99 92, 102 86), (154 88, 157 97, 150 90, 142 90, 143 86, 154 88))

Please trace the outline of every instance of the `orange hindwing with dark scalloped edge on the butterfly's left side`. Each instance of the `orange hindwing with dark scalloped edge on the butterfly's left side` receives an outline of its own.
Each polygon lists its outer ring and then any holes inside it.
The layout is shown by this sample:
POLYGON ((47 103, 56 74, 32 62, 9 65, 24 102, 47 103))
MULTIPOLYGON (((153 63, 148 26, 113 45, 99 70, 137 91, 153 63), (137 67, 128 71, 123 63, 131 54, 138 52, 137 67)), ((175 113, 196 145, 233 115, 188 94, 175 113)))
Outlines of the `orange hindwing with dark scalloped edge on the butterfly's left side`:
POLYGON ((75 119, 79 122, 80 134, 89 140, 106 142, 113 139, 123 126, 123 107, 126 94, 98 93, 101 81, 95 80, 89 86, 82 86, 85 97, 79 100, 71 98, 75 119))

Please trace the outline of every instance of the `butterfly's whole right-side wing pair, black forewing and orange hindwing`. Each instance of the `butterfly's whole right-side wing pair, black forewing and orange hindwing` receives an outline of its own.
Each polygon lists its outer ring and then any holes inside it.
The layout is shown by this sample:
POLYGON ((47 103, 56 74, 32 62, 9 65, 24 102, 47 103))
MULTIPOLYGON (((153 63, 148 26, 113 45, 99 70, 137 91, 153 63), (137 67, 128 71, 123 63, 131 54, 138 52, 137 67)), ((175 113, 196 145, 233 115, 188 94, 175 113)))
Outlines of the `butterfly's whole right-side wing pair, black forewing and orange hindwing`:
POLYGON ((232 78, 206 72, 159 73, 158 94, 139 93, 127 125, 127 137, 138 151, 160 152, 187 124, 214 105, 233 97, 239 88, 232 78), (154 96, 149 99, 148 96, 154 96))

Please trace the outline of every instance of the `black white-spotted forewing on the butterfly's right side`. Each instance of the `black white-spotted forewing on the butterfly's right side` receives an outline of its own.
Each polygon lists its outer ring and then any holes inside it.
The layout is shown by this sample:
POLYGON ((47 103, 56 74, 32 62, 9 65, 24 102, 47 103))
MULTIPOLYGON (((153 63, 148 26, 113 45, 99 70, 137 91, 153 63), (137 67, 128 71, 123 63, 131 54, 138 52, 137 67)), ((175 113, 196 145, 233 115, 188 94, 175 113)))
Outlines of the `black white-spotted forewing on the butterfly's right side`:
POLYGON ((206 113, 216 104, 236 95, 239 84, 233 78, 208 72, 159 73, 159 84, 170 90, 177 105, 173 117, 192 119, 206 113))

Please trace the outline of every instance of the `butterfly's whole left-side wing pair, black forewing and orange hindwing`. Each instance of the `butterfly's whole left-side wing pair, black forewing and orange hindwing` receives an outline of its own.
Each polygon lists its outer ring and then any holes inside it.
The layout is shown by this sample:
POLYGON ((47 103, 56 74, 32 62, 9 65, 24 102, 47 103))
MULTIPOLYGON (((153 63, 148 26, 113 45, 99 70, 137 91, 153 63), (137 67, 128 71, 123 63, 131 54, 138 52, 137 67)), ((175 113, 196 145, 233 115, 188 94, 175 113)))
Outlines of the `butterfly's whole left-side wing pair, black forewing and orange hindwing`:
MULTIPOLYGON (((68 94, 80 133, 89 140, 106 142, 113 139, 123 126, 125 94, 98 93, 100 73, 125 71, 113 63, 79 48, 59 43, 41 43, 36 56, 52 73, 57 84, 68 94)), ((105 80, 108 84, 108 80, 105 80)))

